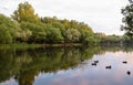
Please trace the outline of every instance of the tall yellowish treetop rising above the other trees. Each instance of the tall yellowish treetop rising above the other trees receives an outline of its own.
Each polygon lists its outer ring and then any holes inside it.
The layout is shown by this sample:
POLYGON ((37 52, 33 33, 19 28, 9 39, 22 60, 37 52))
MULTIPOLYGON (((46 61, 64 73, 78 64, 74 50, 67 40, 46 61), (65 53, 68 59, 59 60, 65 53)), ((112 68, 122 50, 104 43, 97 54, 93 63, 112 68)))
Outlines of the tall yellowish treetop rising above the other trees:
POLYGON ((16 10, 11 17, 18 22, 21 22, 21 21, 38 22, 39 21, 38 14, 34 14, 34 9, 29 2, 20 3, 18 10, 16 10))

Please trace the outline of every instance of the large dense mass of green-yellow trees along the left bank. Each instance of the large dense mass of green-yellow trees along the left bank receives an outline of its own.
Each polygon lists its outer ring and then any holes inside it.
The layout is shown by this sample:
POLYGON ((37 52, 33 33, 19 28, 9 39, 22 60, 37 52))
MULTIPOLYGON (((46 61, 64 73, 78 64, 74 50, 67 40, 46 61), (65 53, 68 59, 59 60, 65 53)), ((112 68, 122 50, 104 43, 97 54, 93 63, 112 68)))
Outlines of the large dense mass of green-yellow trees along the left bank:
POLYGON ((96 43, 92 29, 75 20, 39 18, 29 2, 20 3, 11 18, 0 14, 0 43, 96 43), (11 19, 12 18, 12 19, 11 19))

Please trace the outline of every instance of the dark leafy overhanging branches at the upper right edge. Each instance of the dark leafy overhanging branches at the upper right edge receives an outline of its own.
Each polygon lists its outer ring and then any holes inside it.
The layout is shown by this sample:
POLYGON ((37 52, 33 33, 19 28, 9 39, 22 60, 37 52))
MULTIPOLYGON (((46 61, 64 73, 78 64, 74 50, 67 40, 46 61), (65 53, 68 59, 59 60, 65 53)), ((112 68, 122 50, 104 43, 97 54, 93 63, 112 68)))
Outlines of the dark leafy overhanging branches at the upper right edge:
POLYGON ((126 34, 133 38, 133 0, 129 0, 129 4, 122 9, 122 14, 124 15, 121 30, 125 30, 126 34))

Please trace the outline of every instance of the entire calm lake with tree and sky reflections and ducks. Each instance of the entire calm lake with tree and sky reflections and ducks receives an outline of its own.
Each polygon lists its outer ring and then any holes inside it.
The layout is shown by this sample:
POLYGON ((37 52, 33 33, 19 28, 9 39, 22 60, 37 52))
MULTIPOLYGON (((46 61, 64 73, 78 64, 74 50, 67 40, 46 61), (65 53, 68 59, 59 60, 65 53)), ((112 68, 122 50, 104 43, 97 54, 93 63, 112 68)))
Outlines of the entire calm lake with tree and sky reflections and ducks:
POLYGON ((133 85, 133 47, 0 49, 0 85, 133 85))

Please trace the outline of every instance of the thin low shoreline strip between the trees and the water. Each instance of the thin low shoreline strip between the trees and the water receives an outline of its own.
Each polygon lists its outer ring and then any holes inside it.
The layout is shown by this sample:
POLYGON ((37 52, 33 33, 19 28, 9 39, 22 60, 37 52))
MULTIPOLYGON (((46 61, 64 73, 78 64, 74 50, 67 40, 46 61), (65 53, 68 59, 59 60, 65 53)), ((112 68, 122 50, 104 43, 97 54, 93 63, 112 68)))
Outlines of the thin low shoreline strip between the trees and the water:
MULTIPOLYGON (((96 44, 101 46, 133 46, 133 44, 96 44)), ((91 44, 82 43, 58 43, 58 44, 28 44, 28 43, 16 43, 16 44, 0 44, 0 50, 2 49, 38 49, 38 47, 82 47, 82 46, 95 46, 91 44)))

